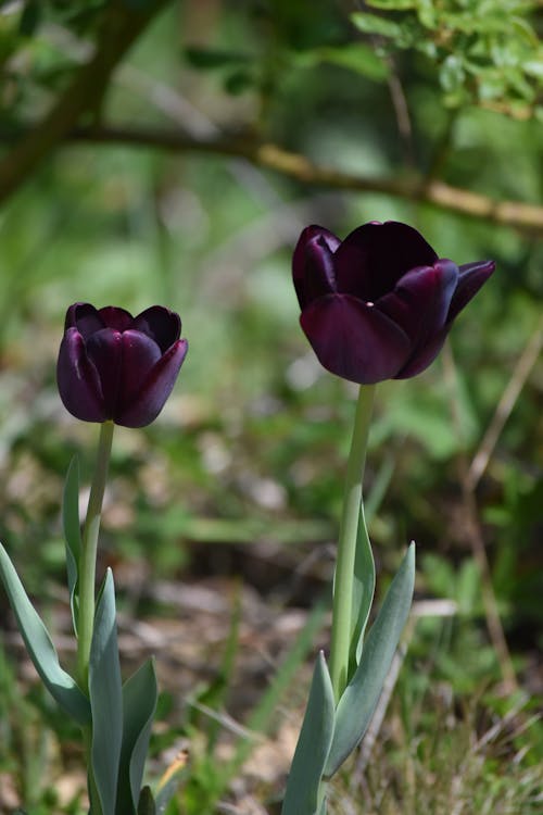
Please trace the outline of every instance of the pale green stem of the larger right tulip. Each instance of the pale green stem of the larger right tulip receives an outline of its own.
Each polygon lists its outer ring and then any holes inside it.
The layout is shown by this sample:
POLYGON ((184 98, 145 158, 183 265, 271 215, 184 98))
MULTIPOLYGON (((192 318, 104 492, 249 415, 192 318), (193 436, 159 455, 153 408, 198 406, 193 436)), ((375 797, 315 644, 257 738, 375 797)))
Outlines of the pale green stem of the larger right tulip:
MULTIPOLYGON (((361 386, 354 417, 353 438, 346 465, 343 511, 338 539, 333 580, 332 634, 330 643, 330 678, 336 702, 339 702, 349 677, 351 648, 354 564, 356 537, 361 522, 362 482, 366 463, 369 419, 376 386, 361 386)), ((364 522, 363 522, 364 523, 364 522)))

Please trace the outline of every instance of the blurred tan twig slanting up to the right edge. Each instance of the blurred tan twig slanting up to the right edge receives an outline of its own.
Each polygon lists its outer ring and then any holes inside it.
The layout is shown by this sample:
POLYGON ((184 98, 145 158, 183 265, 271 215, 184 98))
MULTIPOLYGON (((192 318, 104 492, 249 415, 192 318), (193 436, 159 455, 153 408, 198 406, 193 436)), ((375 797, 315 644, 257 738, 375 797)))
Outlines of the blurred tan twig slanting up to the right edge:
POLYGON ((490 457, 494 452, 494 448, 500 438, 504 425, 510 416, 513 409, 517 402, 517 399, 522 390, 526 380, 528 379, 532 367, 534 366, 543 347, 543 317, 540 318, 535 330, 526 346, 525 350, 520 354, 517 364, 513 371, 512 377, 502 393, 502 398, 497 403, 492 421, 487 428, 487 432, 479 446, 477 453, 469 466, 467 474, 467 486, 470 490, 475 490, 479 480, 487 469, 490 457))

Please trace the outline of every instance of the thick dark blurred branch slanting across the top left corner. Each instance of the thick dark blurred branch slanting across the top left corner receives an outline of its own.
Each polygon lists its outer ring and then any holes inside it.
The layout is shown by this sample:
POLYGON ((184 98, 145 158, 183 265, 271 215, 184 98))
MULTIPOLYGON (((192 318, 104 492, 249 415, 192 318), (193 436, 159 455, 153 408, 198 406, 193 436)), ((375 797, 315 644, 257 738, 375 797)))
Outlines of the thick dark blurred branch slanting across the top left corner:
POLYGON ((86 113, 96 114, 111 74, 151 18, 167 0, 139 11, 113 1, 102 21, 93 57, 83 65, 51 111, 20 137, 0 161, 0 201, 15 192, 86 113))

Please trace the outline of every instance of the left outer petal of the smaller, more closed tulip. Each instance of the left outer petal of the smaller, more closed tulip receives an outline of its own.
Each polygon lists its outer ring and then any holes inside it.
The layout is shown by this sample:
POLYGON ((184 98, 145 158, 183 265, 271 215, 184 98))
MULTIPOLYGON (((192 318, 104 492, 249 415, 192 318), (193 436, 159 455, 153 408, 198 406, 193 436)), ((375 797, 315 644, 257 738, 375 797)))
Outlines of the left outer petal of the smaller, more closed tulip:
POLYGON ((56 383, 62 402, 83 422, 105 422, 108 412, 100 376, 89 359, 85 340, 75 327, 62 338, 56 364, 56 383))

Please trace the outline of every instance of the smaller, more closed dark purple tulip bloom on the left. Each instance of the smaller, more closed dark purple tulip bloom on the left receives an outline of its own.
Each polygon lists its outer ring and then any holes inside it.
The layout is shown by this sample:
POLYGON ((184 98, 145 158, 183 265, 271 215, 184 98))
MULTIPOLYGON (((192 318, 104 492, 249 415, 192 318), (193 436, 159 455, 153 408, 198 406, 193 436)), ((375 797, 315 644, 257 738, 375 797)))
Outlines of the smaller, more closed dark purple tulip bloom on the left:
POLYGON ((84 422, 149 425, 187 354, 180 333, 179 315, 161 305, 137 317, 113 305, 71 305, 56 365, 64 406, 84 422))

